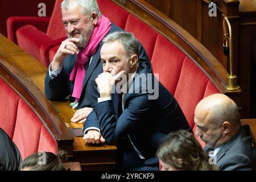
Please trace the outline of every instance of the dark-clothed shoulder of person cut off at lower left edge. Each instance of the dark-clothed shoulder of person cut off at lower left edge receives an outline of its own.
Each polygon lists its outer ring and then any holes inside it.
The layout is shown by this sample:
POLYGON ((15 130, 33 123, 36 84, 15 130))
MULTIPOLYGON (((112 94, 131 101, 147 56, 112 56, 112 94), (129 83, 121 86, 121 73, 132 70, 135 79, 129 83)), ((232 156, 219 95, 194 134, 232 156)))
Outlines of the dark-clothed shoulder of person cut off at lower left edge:
POLYGON ((22 162, 13 140, 0 127, 0 171, 15 171, 22 162))

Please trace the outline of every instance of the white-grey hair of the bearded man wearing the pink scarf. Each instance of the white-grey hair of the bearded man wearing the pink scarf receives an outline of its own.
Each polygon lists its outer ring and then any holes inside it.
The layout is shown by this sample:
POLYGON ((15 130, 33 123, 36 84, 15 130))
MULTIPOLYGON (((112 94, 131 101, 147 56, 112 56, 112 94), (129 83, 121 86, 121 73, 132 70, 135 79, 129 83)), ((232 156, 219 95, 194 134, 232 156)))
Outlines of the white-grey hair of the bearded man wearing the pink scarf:
POLYGON ((82 13, 84 15, 90 15, 96 12, 97 15, 101 16, 101 11, 98 8, 98 3, 96 0, 64 0, 61 3, 61 9, 68 9, 69 3, 76 2, 77 5, 82 7, 82 13))

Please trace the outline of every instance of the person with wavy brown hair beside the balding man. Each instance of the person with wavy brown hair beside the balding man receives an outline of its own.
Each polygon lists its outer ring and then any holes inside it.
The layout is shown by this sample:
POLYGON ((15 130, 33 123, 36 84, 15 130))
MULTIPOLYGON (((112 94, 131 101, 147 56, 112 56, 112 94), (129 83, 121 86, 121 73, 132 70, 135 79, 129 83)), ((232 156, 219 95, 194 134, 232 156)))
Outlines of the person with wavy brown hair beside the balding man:
POLYGON ((160 171, 217 171, 215 164, 209 164, 209 156, 197 142, 193 133, 185 130, 167 135, 156 151, 160 171))

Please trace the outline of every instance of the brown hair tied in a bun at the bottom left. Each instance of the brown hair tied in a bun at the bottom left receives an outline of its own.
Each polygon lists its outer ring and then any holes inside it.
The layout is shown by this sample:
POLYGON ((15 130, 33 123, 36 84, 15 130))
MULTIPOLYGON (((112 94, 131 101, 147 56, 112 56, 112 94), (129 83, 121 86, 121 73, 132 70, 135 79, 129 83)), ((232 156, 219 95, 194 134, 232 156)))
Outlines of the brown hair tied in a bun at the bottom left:
POLYGON ((65 151, 59 151, 57 155, 52 152, 36 152, 28 156, 20 164, 20 169, 27 168, 30 171, 67 171, 62 164, 67 160, 65 151))

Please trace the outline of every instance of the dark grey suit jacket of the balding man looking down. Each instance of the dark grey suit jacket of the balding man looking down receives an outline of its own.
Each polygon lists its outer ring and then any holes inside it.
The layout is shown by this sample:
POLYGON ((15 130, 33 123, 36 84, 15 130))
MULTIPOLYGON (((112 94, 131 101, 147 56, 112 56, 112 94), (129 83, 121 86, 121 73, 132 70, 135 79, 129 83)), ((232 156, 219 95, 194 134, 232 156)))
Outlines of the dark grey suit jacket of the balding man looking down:
MULTIPOLYGON (((211 149, 205 147, 205 151, 211 149)), ((251 137, 241 127, 230 140, 221 146, 217 155, 217 166, 221 171, 255 170, 256 149, 251 147, 251 137)))

